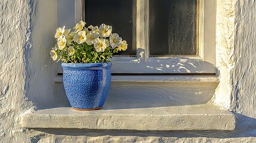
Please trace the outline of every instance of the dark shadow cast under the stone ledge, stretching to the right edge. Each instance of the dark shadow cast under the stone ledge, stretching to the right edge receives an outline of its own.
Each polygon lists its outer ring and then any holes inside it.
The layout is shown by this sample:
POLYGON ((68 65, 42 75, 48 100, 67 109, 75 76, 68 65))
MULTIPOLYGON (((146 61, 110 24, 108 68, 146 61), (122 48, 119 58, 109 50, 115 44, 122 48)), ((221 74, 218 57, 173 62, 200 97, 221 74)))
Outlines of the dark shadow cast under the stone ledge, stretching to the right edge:
POLYGON ((137 130, 88 130, 88 129, 36 129, 41 132, 54 135, 67 136, 163 136, 175 138, 247 138, 256 137, 256 119, 234 113, 237 117, 236 129, 233 131, 166 131, 166 132, 148 132, 137 130))

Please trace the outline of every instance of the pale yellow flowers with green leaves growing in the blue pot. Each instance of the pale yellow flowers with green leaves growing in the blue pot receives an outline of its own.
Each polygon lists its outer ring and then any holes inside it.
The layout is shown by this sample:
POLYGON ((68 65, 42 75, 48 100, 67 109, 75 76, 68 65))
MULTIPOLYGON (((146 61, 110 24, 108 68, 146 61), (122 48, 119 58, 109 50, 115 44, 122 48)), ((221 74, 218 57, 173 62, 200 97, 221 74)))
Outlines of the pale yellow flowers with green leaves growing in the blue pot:
POLYGON ((118 34, 112 33, 112 26, 101 24, 85 27, 84 21, 79 21, 70 29, 59 27, 55 38, 57 44, 51 50, 53 60, 65 63, 101 63, 108 62, 112 54, 127 49, 127 41, 122 41, 118 34))

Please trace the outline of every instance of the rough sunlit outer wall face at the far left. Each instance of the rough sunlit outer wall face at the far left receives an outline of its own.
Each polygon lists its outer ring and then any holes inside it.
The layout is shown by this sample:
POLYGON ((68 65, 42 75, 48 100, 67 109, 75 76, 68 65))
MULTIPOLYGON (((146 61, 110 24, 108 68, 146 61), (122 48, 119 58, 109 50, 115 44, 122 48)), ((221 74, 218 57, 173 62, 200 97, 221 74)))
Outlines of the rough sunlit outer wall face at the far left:
POLYGON ((0 142, 25 142, 20 114, 32 108, 25 94, 26 50, 30 48, 29 1, 0 2, 0 142))

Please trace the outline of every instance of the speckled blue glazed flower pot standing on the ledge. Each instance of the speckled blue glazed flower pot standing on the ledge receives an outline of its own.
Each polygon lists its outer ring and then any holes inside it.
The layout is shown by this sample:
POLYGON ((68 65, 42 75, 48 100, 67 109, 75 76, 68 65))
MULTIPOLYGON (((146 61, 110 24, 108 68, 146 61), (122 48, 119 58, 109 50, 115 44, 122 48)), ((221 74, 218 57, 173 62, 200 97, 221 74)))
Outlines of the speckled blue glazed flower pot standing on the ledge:
POLYGON ((112 63, 62 63, 63 85, 76 110, 103 107, 109 92, 112 63))

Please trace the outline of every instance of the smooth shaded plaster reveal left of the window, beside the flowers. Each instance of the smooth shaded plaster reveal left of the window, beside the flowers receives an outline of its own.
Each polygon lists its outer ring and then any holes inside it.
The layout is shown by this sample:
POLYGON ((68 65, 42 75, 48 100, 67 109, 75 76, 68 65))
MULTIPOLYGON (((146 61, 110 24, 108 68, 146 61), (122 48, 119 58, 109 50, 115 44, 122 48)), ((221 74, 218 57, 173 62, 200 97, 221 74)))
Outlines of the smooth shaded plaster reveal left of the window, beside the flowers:
POLYGON ((33 1, 30 4, 32 47, 27 50, 27 98, 37 107, 53 104, 57 63, 51 60, 49 50, 55 45, 57 29, 57 1, 33 1))

